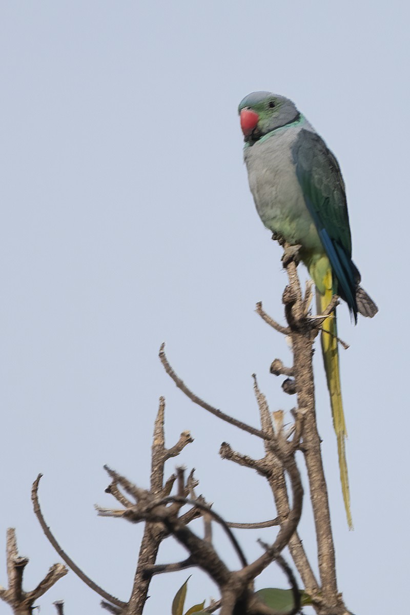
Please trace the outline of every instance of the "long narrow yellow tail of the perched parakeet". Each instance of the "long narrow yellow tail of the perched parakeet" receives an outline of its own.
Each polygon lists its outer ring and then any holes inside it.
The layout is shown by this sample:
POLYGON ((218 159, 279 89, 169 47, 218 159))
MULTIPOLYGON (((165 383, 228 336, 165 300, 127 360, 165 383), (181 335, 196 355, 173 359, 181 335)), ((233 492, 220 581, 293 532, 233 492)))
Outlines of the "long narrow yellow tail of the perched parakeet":
MULTIPOLYGON (((326 272, 325 280, 323 280, 323 282, 325 285, 325 293, 317 293, 321 312, 327 308, 333 295, 332 274, 330 269, 326 272)), ((349 530, 353 530, 352 513, 350 512, 349 477, 347 475, 345 450, 345 438, 347 437, 347 431, 342 405, 339 352, 337 349, 336 314, 331 314, 328 318, 326 318, 323 322, 322 328, 323 333, 321 334, 321 348, 323 351, 323 362, 325 363, 326 380, 330 394, 333 427, 337 438, 337 453, 339 454, 339 469, 341 473, 344 507, 346 510, 349 530), (326 333, 326 331, 328 331, 328 333, 326 333)))

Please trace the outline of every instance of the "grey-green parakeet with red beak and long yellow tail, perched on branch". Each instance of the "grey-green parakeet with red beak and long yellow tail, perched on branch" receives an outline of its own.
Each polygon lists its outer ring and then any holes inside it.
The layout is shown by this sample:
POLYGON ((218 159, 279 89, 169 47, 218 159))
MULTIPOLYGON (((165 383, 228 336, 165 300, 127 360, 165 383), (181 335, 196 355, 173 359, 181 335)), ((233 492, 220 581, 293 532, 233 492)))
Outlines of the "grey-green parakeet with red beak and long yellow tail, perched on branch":
MULTIPOLYGON (((315 282, 318 311, 334 294, 357 314, 373 317, 377 306, 360 287, 352 261, 352 239, 345 186, 336 157, 294 103, 270 92, 253 92, 239 105, 245 137, 244 158, 259 216, 270 231, 290 245, 315 282)), ((345 456, 336 312, 322 324, 321 347, 337 437, 342 493, 352 528, 345 456)))

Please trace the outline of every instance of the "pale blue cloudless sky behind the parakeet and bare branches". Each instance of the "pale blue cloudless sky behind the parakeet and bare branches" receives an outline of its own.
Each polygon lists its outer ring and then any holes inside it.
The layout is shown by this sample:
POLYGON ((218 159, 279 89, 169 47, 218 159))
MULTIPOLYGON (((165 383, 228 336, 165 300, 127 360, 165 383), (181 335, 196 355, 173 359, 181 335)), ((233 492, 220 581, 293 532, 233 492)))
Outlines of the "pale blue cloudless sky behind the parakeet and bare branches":
MULTIPOLYGON (((254 371, 272 410, 294 404, 269 374, 272 359, 290 360, 285 341, 253 311, 263 300, 282 317, 285 276, 254 210, 237 117, 248 92, 272 90, 296 102, 339 159, 353 258, 380 308, 357 327, 339 309, 351 344, 341 359, 351 533, 315 360, 339 587, 358 615, 403 610, 409 17, 398 0, 0 2, 0 553, 16 526, 28 588, 58 561, 31 510, 43 472, 41 502, 61 545, 128 598, 141 528, 97 518, 93 504, 113 502, 104 463, 147 485, 162 394, 167 442, 191 430, 180 462, 197 469, 215 509, 228 520, 275 515, 262 479, 218 457, 223 440, 254 456, 261 444, 194 407, 157 359, 166 341, 192 389, 254 425, 254 371)), ((301 534, 314 555, 308 508, 301 534)), ((259 536, 238 533, 250 558, 259 536)), ((178 555, 170 542, 161 552, 178 555)), ((186 576, 157 578, 146 613, 170 612, 186 576)), ((260 586, 282 582, 272 567, 260 586)), ((210 595, 194 573, 187 601, 210 595)), ((54 613, 59 598, 66 615, 102 612, 73 573, 41 612, 54 613)))

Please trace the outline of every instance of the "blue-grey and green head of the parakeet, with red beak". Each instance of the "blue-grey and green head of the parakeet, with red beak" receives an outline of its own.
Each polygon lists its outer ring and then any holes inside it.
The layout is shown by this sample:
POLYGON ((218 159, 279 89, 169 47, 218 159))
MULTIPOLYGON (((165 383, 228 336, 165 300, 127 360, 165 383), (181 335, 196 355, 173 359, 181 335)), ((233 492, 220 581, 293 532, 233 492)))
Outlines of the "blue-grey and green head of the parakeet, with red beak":
POLYGON ((240 102, 238 113, 245 141, 254 143, 271 130, 299 118, 294 103, 272 92, 252 92, 240 102))

